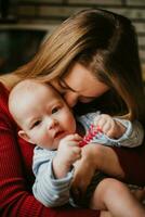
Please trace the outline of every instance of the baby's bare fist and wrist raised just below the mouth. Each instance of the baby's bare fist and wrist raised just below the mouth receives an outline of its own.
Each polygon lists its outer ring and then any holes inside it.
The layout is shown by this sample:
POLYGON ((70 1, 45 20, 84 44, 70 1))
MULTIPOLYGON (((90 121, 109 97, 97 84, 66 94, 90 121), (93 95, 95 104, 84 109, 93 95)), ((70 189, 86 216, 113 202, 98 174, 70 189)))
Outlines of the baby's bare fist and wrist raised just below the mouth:
POLYGON ((72 164, 81 157, 80 140, 82 138, 77 133, 66 136, 61 140, 57 154, 53 159, 53 170, 56 178, 66 176, 72 164))

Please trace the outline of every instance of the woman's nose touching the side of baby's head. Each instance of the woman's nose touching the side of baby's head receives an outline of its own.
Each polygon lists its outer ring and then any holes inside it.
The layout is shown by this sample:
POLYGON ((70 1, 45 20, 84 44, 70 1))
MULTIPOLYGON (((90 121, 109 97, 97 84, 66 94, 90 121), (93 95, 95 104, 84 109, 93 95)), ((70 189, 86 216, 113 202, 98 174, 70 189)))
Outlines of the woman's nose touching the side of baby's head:
POLYGON ((74 106, 77 104, 77 102, 78 102, 78 100, 79 100, 79 97, 78 97, 78 93, 77 93, 77 92, 70 91, 70 92, 66 92, 66 93, 64 94, 64 99, 65 99, 65 101, 67 102, 67 104, 68 104, 70 107, 74 107, 74 106))

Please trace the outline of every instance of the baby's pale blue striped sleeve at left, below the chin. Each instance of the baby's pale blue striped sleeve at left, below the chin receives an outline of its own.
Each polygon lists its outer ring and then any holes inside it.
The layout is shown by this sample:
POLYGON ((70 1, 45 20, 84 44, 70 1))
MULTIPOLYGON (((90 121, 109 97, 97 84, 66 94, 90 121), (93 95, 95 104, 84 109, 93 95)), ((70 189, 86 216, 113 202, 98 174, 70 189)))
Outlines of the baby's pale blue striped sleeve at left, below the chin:
POLYGON ((52 167, 56 151, 49 151, 36 146, 34 153, 32 169, 36 181, 32 191, 36 199, 49 207, 62 206, 68 203, 72 170, 66 177, 56 179, 52 167))

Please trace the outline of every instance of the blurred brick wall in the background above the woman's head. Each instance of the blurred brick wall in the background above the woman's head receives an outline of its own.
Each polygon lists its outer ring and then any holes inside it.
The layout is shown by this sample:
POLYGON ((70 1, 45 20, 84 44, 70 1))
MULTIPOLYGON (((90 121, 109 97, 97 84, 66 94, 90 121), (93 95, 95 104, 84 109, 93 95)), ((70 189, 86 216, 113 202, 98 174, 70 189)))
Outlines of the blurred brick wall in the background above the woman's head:
POLYGON ((140 56, 142 64, 145 65, 144 0, 18 0, 14 7, 19 22, 24 23, 60 24, 74 12, 97 7, 122 14, 136 27, 140 56))

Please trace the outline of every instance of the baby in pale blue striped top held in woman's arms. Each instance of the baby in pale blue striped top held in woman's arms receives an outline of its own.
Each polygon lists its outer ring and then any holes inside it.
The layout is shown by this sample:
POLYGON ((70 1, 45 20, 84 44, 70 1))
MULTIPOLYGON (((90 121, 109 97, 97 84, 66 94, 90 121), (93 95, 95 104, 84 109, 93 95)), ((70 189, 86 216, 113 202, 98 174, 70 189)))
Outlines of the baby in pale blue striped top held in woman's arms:
MULTIPOLYGON (((9 108, 21 127, 18 136, 37 144, 34 154, 32 169, 36 181, 32 191, 38 201, 50 207, 68 202, 77 205, 70 194, 74 164, 81 157, 81 136, 92 123, 96 127, 100 126, 102 132, 92 138, 91 143, 131 146, 140 145, 144 137, 142 126, 137 122, 132 124, 126 119, 101 115, 98 112, 79 117, 78 124, 56 90, 34 79, 21 81, 13 88, 9 108), (81 128, 78 128, 80 125, 81 128), (78 130, 82 128, 83 130, 78 130)), ((145 216, 144 208, 126 184, 106 178, 102 173, 96 173, 94 179, 96 181, 95 186, 93 183, 93 190, 89 188, 92 192, 88 190, 84 196, 89 207, 107 209, 113 216, 145 216)))

